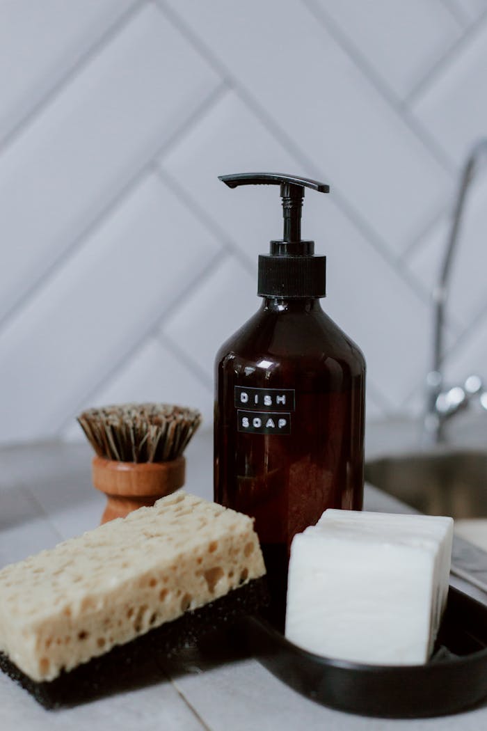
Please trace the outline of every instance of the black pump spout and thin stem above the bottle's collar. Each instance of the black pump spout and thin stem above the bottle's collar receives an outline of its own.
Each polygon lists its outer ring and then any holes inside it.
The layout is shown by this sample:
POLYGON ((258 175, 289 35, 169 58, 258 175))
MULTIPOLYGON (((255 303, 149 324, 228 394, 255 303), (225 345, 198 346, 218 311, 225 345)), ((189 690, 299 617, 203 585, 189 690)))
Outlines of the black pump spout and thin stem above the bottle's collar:
POLYGON ((297 175, 280 175, 279 173, 238 173, 237 175, 220 175, 219 180, 229 188, 239 185, 280 185, 283 199, 284 234, 286 243, 301 241, 301 209, 304 188, 311 188, 319 193, 329 193, 330 186, 310 178, 297 175))

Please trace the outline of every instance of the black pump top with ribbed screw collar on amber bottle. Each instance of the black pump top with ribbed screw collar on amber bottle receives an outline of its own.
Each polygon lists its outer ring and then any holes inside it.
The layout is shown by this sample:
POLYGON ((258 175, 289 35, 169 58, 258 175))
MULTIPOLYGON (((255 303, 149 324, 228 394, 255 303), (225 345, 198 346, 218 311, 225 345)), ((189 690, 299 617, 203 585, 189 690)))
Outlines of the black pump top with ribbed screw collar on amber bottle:
POLYGON ((329 186, 310 178, 278 173, 221 175, 220 180, 230 188, 241 185, 280 185, 283 239, 271 241, 269 254, 258 257, 259 297, 326 297, 326 257, 315 256, 314 241, 302 240, 301 211, 305 187, 329 193, 329 186))

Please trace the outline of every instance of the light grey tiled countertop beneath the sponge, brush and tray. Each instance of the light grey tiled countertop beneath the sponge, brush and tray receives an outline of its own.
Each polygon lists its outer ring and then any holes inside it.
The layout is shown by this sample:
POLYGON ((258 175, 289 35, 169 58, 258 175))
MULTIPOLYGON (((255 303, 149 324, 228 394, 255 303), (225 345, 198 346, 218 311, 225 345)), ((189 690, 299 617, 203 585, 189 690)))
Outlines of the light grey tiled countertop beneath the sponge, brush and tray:
MULTIPOLYGON (((87 444, 29 444, 0 450, 0 567, 99 523, 104 496, 91 487, 87 444)), ((186 452, 185 488, 212 498, 212 436, 196 434, 186 452)), ((387 499, 386 499, 387 500, 387 499)), ((366 507, 386 509, 377 492, 366 507)), ((183 658, 160 682, 77 708, 45 711, 0 673, 1 731, 478 731, 487 727, 487 702, 440 719, 373 719, 333 711, 307 700, 256 660, 204 668, 183 658)))

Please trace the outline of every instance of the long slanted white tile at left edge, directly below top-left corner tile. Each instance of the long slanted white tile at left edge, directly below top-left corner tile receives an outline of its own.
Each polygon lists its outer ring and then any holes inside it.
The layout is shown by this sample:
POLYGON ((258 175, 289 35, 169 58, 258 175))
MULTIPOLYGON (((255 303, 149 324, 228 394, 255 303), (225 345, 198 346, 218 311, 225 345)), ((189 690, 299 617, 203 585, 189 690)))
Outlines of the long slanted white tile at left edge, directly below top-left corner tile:
POLYGON ((218 83, 145 7, 0 158, 0 313, 49 268, 218 83))

